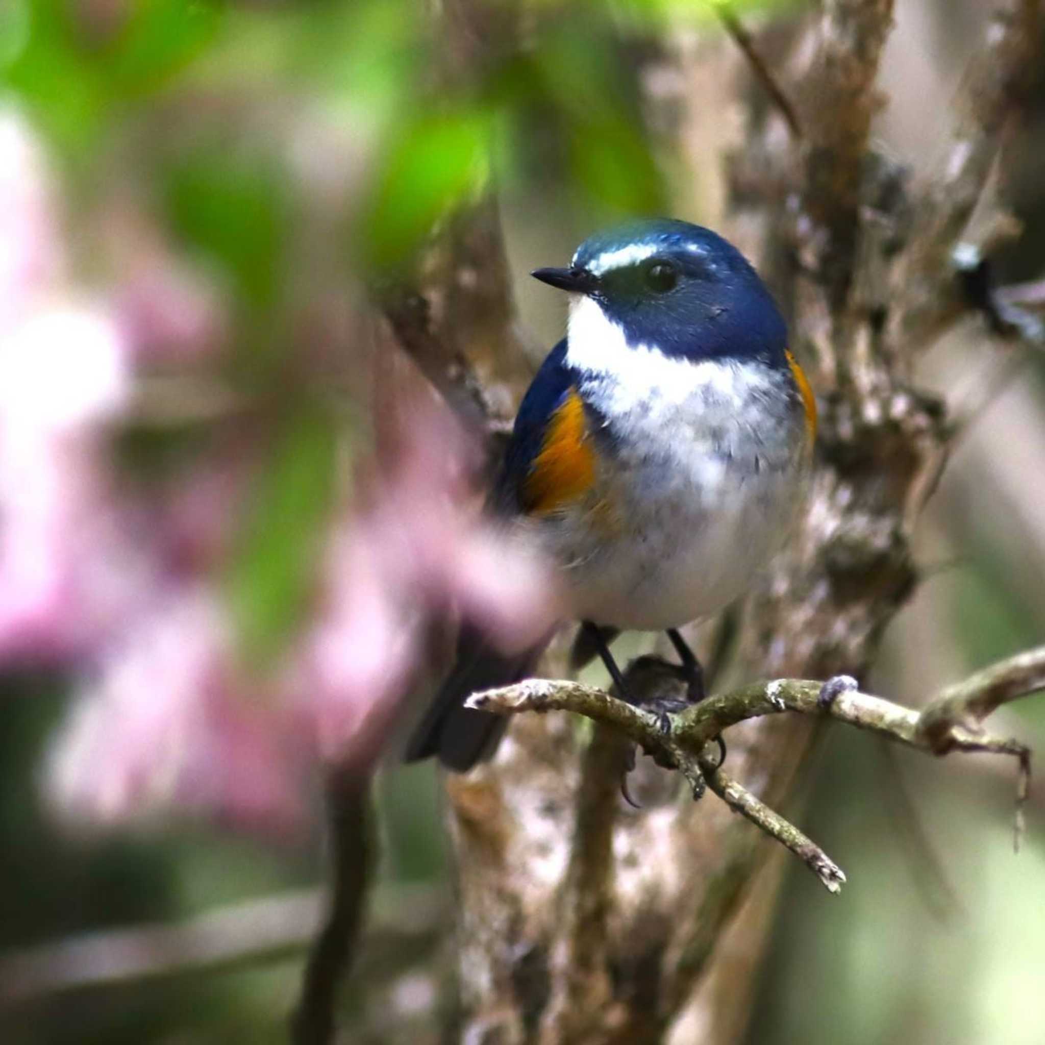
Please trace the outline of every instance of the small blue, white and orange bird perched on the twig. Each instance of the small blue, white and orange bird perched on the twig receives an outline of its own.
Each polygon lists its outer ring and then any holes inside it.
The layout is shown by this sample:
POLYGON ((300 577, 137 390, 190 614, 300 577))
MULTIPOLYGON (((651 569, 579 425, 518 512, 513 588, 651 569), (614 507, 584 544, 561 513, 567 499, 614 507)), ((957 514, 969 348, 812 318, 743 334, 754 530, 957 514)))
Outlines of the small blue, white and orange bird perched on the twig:
MULTIPOLYGON (((519 407, 493 491, 497 513, 556 563, 581 648, 629 698, 608 642, 676 630, 745 591, 791 531, 816 407, 780 310, 721 236, 644 220, 585 240, 534 277, 570 295, 566 336, 519 407)), ((463 706, 525 678, 542 647, 506 656, 466 627, 457 661, 408 746, 465 771, 504 719, 463 706)))

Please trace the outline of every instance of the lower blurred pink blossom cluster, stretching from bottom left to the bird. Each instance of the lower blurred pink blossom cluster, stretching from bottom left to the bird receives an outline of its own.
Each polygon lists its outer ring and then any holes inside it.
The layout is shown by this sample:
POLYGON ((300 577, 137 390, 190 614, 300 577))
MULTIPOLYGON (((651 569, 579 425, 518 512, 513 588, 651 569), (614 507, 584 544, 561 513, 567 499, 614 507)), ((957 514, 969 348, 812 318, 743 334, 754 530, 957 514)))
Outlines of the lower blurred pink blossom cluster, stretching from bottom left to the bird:
POLYGON ((306 808, 317 758, 368 768, 385 751, 434 624, 460 612, 502 648, 539 640, 551 585, 477 510, 463 447, 448 418, 415 413, 365 507, 335 527, 325 596, 264 681, 237 670, 206 583, 129 622, 55 748, 59 805, 102 822, 182 807, 286 826, 306 808))

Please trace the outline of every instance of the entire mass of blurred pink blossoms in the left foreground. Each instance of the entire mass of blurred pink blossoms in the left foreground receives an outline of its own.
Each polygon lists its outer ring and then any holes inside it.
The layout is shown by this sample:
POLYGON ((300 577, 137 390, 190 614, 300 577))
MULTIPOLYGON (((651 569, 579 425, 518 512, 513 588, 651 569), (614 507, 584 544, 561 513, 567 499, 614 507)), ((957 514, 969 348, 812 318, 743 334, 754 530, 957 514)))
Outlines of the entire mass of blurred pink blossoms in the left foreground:
POLYGON ((0 192, 16 202, 0 208, 0 658, 75 676, 48 763, 59 808, 300 822, 319 760, 369 768, 387 749, 455 619, 506 651, 553 626, 541 563, 481 511, 475 447, 389 346, 370 388, 374 452, 328 522, 311 612, 270 674, 247 670, 220 591, 263 464, 262 407, 246 429, 236 412, 196 417, 213 426, 173 479, 121 472, 114 444, 142 367, 206 378, 217 299, 130 217, 109 301, 68 291, 39 150, 3 113, 0 192))

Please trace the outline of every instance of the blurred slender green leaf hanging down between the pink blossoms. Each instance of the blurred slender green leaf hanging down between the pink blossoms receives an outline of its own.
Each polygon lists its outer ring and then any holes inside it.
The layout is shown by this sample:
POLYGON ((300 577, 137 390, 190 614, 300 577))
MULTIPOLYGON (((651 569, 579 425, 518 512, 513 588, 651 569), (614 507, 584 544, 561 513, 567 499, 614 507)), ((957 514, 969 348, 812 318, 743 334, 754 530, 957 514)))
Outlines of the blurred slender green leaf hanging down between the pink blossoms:
POLYGON ((333 493, 335 433, 322 411, 285 421, 233 556, 229 601, 249 666, 273 664, 301 619, 333 493))

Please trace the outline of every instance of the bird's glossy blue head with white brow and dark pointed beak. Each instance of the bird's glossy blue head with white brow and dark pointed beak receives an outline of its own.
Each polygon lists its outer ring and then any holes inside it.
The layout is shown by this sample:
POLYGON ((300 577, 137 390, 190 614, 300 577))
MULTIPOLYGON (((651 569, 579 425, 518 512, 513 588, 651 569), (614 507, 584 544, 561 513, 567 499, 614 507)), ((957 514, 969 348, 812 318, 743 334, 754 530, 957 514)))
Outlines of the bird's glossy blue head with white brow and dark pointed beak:
POLYGON ((583 324, 589 331, 604 324, 632 347, 675 358, 788 365, 787 328, 765 284, 740 251, 699 225, 624 225, 586 239, 568 269, 533 275, 571 292, 571 339, 575 317, 585 317, 596 321, 583 324))

